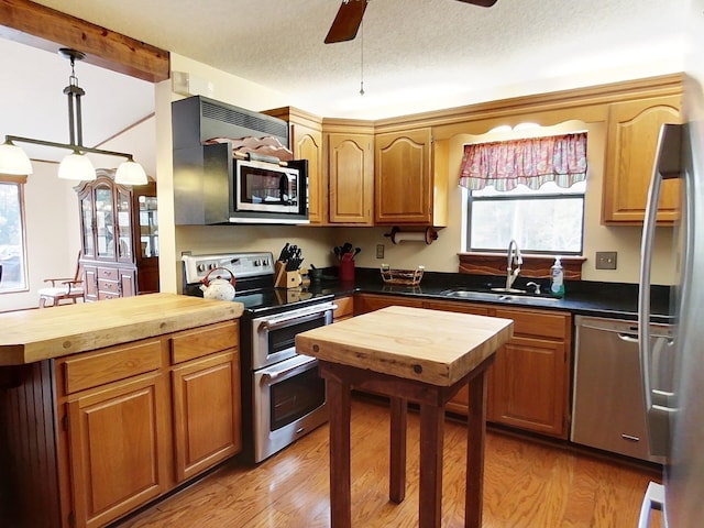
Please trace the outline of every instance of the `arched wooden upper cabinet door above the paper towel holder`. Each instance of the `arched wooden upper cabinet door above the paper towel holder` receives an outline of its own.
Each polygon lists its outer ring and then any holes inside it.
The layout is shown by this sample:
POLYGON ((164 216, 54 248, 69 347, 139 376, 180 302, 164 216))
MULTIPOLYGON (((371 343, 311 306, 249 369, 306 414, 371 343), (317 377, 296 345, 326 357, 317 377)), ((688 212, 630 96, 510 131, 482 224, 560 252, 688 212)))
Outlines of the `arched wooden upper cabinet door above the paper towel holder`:
POLYGON ((430 129, 375 138, 375 222, 432 224, 430 129))

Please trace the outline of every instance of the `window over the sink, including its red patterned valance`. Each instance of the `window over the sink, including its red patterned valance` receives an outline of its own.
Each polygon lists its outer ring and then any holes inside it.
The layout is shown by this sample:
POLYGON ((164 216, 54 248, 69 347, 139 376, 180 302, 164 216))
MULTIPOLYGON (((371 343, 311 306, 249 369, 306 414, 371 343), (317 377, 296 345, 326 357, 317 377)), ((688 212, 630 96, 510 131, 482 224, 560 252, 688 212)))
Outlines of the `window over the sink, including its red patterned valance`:
MULTIPOLYGON (((584 239, 586 132, 476 141, 464 146, 465 250, 580 255, 584 239)), ((540 131, 542 135, 540 135, 540 131)), ((491 138, 491 133, 487 134, 491 138)))

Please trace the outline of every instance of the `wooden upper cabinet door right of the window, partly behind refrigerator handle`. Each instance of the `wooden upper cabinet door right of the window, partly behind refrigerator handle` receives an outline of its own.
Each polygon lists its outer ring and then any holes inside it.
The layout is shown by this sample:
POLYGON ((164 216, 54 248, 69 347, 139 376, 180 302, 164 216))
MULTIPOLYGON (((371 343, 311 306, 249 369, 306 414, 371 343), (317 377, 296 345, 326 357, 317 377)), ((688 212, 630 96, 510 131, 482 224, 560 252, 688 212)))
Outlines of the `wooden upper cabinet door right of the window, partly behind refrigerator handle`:
MULTIPOLYGON (((663 123, 680 123, 681 96, 616 102, 609 107, 602 221, 642 224, 658 135, 663 123)), ((679 180, 666 180, 658 205, 658 223, 679 216, 679 180)))

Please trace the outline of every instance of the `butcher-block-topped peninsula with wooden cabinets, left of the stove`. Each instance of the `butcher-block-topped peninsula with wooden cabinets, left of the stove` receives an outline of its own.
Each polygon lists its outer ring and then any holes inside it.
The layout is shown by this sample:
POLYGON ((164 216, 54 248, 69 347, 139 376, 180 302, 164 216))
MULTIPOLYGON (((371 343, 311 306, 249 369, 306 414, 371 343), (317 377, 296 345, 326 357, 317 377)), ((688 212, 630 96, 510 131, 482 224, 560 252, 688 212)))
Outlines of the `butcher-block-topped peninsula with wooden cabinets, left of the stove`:
POLYGON ((240 302, 0 315, 0 518, 99 527, 241 450, 240 302))

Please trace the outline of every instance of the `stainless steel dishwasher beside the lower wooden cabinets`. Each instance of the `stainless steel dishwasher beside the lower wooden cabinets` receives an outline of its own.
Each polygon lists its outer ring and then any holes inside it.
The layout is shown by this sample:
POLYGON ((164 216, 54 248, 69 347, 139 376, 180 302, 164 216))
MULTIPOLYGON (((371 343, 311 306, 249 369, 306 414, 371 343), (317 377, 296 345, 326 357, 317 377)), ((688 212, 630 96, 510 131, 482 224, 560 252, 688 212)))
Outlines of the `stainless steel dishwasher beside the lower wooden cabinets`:
MULTIPOLYGON (((638 356, 638 323, 576 316, 571 440, 662 463, 650 455, 638 356)), ((659 387, 671 387, 674 346, 668 324, 650 324, 659 387)))

